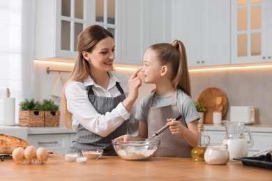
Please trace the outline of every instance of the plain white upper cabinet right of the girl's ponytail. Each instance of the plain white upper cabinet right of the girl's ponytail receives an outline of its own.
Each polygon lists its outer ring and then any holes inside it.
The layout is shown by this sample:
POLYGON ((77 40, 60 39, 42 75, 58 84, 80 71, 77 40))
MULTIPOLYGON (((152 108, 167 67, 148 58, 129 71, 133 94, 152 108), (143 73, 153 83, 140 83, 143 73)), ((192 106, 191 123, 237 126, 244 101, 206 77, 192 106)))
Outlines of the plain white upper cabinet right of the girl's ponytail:
POLYGON ((172 40, 181 40, 188 66, 229 65, 230 1, 172 1, 172 40))

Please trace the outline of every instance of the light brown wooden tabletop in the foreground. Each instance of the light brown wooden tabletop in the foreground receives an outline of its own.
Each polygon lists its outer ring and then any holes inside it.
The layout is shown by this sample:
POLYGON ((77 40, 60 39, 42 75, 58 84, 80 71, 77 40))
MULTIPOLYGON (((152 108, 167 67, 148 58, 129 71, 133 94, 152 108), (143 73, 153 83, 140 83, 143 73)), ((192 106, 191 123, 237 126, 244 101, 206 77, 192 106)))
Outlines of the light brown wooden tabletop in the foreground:
POLYGON ((0 180, 272 180, 272 170, 244 166, 239 161, 209 165, 169 157, 126 161, 104 156, 78 164, 66 162, 63 155, 50 155, 44 165, 16 165, 12 159, 4 159, 0 180))

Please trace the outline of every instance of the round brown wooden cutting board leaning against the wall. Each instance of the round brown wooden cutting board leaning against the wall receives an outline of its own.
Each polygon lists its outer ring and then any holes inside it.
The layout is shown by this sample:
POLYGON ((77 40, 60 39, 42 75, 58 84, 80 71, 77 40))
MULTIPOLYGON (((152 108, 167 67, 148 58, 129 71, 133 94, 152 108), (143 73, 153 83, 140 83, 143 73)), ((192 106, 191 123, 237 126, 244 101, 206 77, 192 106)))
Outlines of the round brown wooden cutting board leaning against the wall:
POLYGON ((224 91, 219 88, 207 88, 198 97, 197 101, 202 102, 206 109, 204 123, 213 123, 213 112, 216 111, 216 97, 222 97, 222 118, 227 114, 228 102, 224 91))

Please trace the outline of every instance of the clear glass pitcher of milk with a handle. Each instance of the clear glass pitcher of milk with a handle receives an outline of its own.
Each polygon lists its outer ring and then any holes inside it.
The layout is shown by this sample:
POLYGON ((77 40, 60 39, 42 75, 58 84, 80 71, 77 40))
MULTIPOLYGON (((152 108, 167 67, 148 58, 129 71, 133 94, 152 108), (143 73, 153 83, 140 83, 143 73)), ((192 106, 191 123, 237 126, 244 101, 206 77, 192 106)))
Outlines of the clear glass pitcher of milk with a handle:
POLYGON ((226 128, 226 136, 223 143, 227 144, 229 150, 229 159, 247 157, 248 148, 252 148, 253 136, 244 122, 224 121, 226 128), (250 141, 245 139, 244 129, 248 132, 250 141))

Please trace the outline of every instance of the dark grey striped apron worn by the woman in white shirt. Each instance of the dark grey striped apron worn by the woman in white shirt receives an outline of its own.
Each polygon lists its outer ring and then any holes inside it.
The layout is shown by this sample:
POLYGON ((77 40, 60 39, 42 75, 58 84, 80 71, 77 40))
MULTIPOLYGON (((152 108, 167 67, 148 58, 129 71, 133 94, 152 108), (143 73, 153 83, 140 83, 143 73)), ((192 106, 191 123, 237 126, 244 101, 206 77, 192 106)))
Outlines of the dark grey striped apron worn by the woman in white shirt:
MULTIPOLYGON (((123 89, 118 82, 116 82, 116 87, 121 93, 121 95, 117 97, 101 97, 94 95, 91 86, 86 88, 88 91, 89 101, 91 104, 93 104, 93 107, 95 107, 98 113, 105 114, 112 111, 112 109, 116 108, 120 102, 126 99, 126 95, 123 93, 123 89)), ((112 139, 116 139, 123 134, 127 134, 127 129, 128 120, 124 121, 114 130, 114 132, 106 137, 103 137, 90 132, 80 124, 77 129, 77 139, 73 141, 70 152, 78 152, 81 154, 81 150, 103 149, 103 155, 116 155, 116 152, 112 146, 112 139)))

